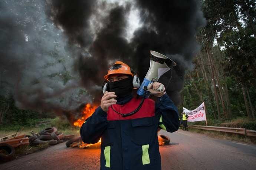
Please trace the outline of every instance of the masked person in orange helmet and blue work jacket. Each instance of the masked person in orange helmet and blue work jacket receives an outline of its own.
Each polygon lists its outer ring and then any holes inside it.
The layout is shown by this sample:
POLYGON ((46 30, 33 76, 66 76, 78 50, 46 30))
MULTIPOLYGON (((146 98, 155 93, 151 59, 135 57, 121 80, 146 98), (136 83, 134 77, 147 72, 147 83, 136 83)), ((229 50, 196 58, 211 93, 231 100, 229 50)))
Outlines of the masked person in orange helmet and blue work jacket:
MULTIPOLYGON (((178 130, 178 110, 168 95, 155 94, 157 101, 145 99, 137 109, 141 97, 133 97, 132 89, 138 86, 137 76, 131 68, 115 62, 104 76, 104 95, 101 106, 81 127, 85 143, 97 143, 101 138, 101 170, 161 170, 157 129, 168 132, 178 130)), ((150 89, 161 83, 154 82, 150 89)))

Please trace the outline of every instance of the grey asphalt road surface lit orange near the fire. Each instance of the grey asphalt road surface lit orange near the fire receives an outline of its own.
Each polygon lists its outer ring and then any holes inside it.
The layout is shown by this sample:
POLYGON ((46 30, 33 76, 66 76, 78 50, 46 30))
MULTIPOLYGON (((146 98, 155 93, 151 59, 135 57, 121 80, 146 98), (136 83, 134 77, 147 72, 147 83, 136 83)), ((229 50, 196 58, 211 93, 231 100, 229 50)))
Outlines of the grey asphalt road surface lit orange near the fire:
MULTIPOLYGON (((255 170, 256 145, 178 130, 171 144, 160 146, 162 170, 255 170)), ((65 143, 0 164, 0 170, 99 170, 97 147, 67 148, 65 143)))

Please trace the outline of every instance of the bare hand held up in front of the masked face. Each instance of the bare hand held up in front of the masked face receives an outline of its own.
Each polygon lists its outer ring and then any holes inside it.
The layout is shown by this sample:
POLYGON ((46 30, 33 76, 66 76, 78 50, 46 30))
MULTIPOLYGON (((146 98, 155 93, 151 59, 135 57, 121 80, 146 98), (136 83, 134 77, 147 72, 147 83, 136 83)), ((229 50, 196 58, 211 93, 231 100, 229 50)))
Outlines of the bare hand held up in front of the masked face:
POLYGON ((105 94, 102 96, 101 109, 104 112, 108 112, 108 107, 114 105, 117 102, 114 98, 116 98, 115 92, 106 91, 105 94))

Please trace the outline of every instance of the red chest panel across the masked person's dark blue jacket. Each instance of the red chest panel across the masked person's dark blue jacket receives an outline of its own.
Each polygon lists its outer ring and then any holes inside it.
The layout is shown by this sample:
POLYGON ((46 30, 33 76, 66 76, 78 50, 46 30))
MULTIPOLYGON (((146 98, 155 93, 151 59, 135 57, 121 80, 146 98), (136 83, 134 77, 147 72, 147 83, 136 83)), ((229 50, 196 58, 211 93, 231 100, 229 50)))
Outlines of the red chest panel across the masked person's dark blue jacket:
MULTIPOLYGON (((139 104, 140 98, 132 98, 131 101, 125 103, 124 105, 112 105, 112 107, 119 113, 130 113, 135 110, 139 104)), ((147 118, 155 116, 155 101, 152 99, 145 99, 141 109, 134 115, 122 117, 122 115, 116 113, 111 107, 108 108, 108 120, 129 120, 129 119, 138 119, 138 118, 147 118)))

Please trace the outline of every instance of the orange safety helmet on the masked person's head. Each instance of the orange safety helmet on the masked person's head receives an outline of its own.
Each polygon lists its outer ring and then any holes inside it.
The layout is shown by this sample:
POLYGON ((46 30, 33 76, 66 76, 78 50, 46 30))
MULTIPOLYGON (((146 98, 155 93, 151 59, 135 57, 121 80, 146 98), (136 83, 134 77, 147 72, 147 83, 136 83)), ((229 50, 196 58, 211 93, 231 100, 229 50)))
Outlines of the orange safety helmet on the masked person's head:
POLYGON ((122 61, 116 61, 109 69, 108 74, 104 76, 106 80, 108 80, 108 76, 111 74, 128 74, 134 76, 134 73, 129 67, 129 65, 125 64, 122 61))

